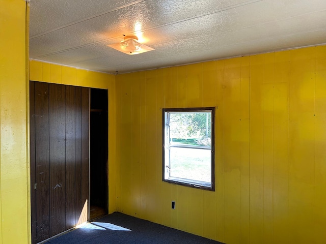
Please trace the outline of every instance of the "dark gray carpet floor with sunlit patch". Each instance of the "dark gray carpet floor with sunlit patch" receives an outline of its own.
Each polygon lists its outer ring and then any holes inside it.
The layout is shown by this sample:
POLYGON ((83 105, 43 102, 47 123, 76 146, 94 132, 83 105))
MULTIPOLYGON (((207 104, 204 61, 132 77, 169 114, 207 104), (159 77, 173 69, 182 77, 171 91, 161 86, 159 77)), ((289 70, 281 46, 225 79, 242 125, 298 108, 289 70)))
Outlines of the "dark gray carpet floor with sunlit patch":
POLYGON ((223 244, 180 230, 115 212, 46 244, 223 244))

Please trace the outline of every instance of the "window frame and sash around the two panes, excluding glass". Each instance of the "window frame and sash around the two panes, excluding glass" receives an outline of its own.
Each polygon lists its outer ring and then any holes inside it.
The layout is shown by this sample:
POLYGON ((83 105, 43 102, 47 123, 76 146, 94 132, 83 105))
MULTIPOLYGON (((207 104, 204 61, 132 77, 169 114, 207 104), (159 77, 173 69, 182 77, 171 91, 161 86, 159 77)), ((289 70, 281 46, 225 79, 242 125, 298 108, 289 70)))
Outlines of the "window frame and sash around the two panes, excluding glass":
POLYGON ((203 108, 164 108, 162 109, 162 180, 170 182, 172 184, 183 185, 193 188, 199 188, 204 190, 215 190, 215 157, 214 157, 214 121, 215 120, 215 107, 203 107, 203 108), (173 144, 170 138, 170 125, 169 118, 171 113, 196 113, 196 112, 210 112, 211 113, 211 145, 210 146, 193 146, 184 144, 173 144), (170 162, 170 148, 171 147, 184 147, 184 148, 196 148, 210 150, 210 170, 211 177, 210 182, 199 181, 195 179, 178 178, 171 176, 171 162, 170 162))

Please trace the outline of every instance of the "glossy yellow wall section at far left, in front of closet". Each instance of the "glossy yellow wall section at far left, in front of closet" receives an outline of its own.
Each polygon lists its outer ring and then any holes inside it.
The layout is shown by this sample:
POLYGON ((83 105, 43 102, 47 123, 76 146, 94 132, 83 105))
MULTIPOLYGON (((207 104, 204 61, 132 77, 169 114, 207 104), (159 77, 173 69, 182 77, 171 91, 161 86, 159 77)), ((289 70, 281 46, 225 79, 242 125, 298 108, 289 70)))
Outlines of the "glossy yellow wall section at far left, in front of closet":
POLYGON ((0 243, 28 243, 26 2, 0 0, 0 243))

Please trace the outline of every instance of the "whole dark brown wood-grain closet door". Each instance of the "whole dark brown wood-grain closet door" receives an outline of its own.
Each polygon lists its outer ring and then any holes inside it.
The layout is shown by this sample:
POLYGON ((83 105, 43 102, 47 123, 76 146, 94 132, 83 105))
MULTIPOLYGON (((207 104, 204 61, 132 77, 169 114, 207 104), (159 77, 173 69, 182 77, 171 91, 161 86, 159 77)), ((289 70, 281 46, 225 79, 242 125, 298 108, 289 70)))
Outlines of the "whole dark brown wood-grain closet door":
POLYGON ((87 221, 89 88, 30 82, 32 242, 87 221))

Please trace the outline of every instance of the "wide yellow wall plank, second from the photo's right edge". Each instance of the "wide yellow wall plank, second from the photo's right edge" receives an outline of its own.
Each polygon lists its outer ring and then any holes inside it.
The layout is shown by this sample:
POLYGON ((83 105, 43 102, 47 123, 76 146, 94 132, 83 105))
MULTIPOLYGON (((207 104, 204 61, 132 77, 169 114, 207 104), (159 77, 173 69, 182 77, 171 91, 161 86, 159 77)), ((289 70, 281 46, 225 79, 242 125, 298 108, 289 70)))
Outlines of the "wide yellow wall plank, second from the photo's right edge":
POLYGON ((291 51, 289 94, 290 241, 309 242, 314 218, 315 49, 291 51), (307 51, 310 50, 308 53, 307 51))

